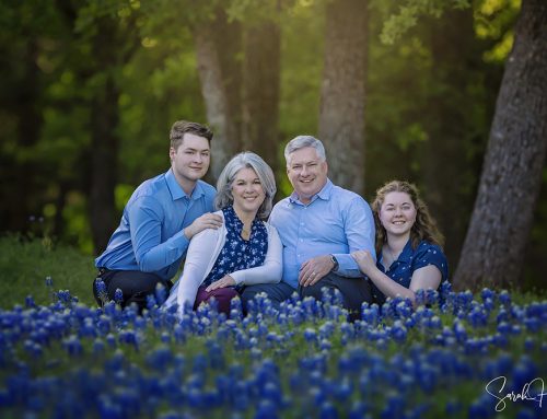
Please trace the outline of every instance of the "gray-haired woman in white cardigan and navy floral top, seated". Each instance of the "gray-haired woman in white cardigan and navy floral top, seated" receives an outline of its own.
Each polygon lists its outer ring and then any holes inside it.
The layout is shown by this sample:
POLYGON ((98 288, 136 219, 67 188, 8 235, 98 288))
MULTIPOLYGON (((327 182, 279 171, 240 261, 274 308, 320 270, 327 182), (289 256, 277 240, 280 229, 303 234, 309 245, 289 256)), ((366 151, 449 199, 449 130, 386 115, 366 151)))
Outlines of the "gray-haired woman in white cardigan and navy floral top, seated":
POLYGON ((257 154, 234 156, 220 174, 214 200, 223 218, 220 229, 196 234, 188 246, 183 275, 173 286, 165 306, 188 307, 214 298, 219 312, 229 314, 237 290, 256 283, 279 282, 282 245, 277 230, 267 223, 276 179, 257 154))

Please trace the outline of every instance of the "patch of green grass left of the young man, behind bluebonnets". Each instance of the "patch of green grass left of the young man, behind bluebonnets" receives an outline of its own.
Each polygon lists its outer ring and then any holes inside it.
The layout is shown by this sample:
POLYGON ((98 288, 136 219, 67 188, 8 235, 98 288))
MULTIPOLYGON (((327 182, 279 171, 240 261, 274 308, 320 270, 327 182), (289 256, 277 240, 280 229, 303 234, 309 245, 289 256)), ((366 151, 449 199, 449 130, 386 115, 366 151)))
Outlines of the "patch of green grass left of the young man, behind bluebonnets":
POLYGON ((51 277, 54 290, 69 290, 86 304, 94 304, 92 282, 96 269, 91 256, 77 249, 55 245, 47 238, 22 235, 0 236, 0 307, 24 304, 32 294, 37 304, 51 302, 45 286, 51 277))

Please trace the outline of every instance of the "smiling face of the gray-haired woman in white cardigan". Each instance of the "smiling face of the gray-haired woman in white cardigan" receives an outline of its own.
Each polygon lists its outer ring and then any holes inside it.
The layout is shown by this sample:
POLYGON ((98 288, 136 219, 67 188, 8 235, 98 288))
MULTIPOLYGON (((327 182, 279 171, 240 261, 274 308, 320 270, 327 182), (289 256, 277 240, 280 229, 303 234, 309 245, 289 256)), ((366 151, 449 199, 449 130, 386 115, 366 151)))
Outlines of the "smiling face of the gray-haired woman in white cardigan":
POLYGON ((251 167, 240 170, 232 182, 234 210, 240 218, 255 218, 266 198, 260 178, 251 167))

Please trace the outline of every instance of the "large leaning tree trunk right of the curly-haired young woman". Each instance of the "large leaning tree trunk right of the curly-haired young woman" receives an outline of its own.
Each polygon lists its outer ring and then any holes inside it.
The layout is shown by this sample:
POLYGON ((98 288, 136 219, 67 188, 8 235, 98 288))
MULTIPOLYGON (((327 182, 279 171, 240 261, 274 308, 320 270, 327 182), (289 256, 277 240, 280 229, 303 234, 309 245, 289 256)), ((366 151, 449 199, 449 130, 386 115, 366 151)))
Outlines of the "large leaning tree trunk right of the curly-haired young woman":
POLYGON ((547 149, 547 3, 524 0, 454 284, 516 286, 547 149))

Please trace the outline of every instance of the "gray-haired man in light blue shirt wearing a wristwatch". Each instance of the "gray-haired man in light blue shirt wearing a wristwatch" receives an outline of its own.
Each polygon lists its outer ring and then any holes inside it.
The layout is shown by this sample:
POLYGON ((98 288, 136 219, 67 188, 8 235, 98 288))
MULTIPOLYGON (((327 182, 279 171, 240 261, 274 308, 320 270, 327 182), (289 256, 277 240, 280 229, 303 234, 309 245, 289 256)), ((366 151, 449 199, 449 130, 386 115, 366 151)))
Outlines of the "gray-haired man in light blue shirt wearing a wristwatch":
POLYGON ((345 307, 358 315, 371 291, 350 253, 366 249, 375 257, 372 211, 362 197, 328 179, 319 140, 299 136, 287 144, 284 158, 294 191, 274 207, 269 219, 283 244, 283 278, 278 284, 247 287, 243 302, 266 292, 279 306, 295 290, 321 299, 326 287, 338 289, 345 307))

